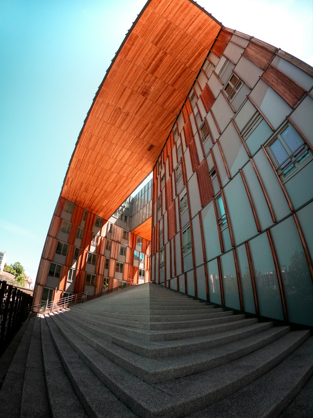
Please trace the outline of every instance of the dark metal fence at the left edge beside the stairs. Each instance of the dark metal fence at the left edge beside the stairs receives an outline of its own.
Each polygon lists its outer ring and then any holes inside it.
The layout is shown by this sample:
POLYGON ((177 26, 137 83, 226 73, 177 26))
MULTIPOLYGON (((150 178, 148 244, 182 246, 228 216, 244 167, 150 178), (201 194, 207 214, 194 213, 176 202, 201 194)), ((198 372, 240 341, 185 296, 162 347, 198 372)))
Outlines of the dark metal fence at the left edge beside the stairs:
POLYGON ((0 281, 0 342, 8 342, 22 322, 27 319, 27 309, 33 296, 6 281, 0 281))

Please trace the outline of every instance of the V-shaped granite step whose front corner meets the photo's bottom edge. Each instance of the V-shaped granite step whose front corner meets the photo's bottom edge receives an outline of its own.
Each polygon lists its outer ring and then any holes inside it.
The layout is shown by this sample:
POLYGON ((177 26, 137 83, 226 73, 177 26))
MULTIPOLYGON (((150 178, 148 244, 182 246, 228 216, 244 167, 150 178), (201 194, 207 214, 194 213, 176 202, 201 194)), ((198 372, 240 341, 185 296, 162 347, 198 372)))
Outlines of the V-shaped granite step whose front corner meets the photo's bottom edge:
POLYGON ((109 390, 118 394, 137 415, 150 418, 187 415, 242 389, 279 364, 309 335, 308 331, 288 333, 272 344, 215 369, 170 382, 148 384, 79 338, 62 323, 61 317, 47 321, 61 326, 66 341, 109 390))

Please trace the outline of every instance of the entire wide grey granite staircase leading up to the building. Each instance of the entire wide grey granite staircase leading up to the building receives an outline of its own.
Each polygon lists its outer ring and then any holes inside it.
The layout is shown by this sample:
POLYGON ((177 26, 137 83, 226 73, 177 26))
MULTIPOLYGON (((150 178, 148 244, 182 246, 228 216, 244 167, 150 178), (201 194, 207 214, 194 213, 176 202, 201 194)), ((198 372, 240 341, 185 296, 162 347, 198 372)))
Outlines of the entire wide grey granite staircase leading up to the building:
POLYGON ((311 418, 312 374, 309 331, 146 283, 30 319, 0 418, 311 418))

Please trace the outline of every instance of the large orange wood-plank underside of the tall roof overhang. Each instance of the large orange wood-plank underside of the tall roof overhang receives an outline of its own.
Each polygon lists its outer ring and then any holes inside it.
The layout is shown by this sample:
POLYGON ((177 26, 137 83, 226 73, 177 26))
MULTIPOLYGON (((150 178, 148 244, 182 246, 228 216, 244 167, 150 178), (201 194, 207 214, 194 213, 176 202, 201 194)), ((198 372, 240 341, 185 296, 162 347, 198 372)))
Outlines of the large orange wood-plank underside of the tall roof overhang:
POLYGON ((146 3, 98 89, 61 196, 109 219, 152 171, 220 28, 190 0, 146 3))

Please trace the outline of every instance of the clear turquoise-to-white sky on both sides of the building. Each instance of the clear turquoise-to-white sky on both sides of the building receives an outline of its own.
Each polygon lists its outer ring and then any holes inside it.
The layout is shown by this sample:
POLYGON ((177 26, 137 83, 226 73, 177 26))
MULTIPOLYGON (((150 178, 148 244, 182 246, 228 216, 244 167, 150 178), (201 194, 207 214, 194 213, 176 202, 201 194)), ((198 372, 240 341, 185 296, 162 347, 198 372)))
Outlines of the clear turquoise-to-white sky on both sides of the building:
MULTIPOLYGON (((92 99, 144 0, 2 0, 0 251, 35 280, 92 99)), ((225 26, 313 65, 311 0, 201 0, 225 26)))

